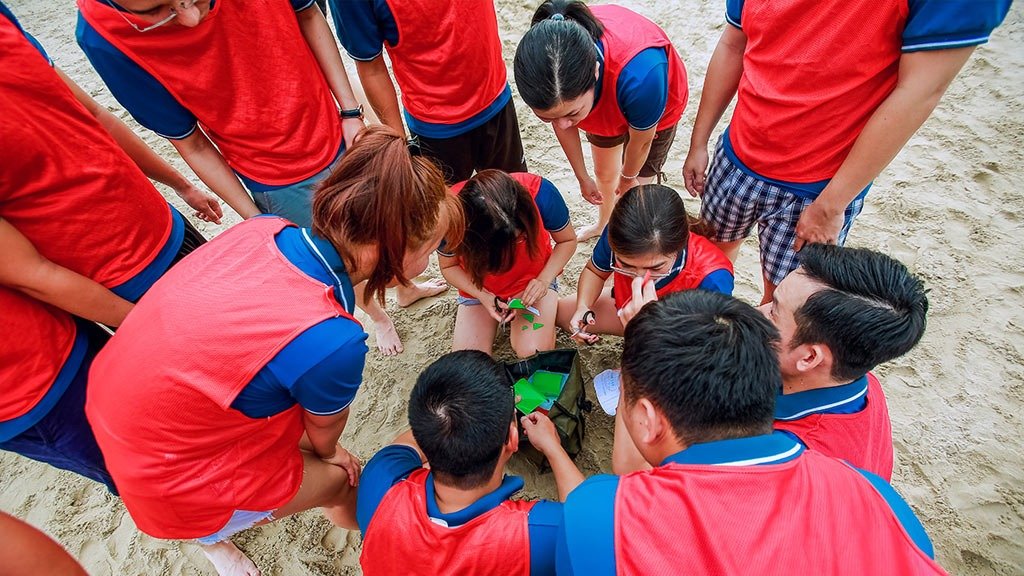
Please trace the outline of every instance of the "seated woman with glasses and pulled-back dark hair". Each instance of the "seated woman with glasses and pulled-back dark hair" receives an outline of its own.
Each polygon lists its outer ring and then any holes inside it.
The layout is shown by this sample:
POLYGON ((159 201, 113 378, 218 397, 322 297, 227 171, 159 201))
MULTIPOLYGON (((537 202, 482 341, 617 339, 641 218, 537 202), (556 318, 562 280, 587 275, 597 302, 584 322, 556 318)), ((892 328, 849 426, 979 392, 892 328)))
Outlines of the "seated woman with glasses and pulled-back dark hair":
POLYGON ((660 184, 630 189, 580 275, 577 293, 558 302, 558 326, 588 343, 598 334, 622 336, 620 313, 633 297, 635 281, 653 282, 656 294, 696 288, 732 295, 732 262, 689 227, 676 191, 660 184), (614 276, 611 288, 604 288, 614 276))

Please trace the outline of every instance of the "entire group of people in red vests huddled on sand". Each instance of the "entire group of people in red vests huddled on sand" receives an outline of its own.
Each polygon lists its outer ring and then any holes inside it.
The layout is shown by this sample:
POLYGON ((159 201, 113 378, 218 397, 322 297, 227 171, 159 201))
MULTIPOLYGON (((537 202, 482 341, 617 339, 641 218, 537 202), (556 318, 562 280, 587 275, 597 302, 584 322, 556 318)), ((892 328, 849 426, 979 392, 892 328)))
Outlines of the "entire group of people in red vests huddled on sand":
MULTIPOLYGON (((368 575, 942 573, 889 485, 871 373, 921 340, 926 290, 842 244, 1009 0, 727 0, 683 168, 698 216, 662 183, 685 47, 622 6, 543 2, 514 77, 599 207, 579 231, 527 170, 490 0, 329 0, 358 84, 313 0, 77 4, 106 87, 213 194, 0 3, 0 448, 102 483, 223 576, 259 574, 232 535, 317 507, 361 531, 368 575), (207 241, 151 180, 244 220, 207 241), (731 296, 755 224, 758 308, 731 296), (413 282, 435 252, 443 281, 413 282), (398 354, 386 290, 408 306, 449 286, 453 352, 364 467, 340 445, 368 354, 355 307, 398 354), (614 476, 585 479, 547 416, 516 413, 502 326, 522 358, 557 329, 624 337, 614 476), (520 435, 558 501, 515 498, 520 435)), ((0 563, 79 573, 23 536, 0 563)))

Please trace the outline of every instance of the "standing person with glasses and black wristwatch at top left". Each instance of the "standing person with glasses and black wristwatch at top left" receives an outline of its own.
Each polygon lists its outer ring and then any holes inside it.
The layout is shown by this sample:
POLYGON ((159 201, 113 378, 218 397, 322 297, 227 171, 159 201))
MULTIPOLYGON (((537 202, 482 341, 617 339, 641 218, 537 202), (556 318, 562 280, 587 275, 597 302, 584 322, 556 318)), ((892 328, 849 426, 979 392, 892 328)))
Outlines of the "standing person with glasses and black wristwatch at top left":
MULTIPOLYGON (((311 225, 313 192, 364 127, 334 35, 311 0, 252 9, 79 0, 78 8, 79 45, 139 124, 167 137, 242 217, 271 213, 311 225)), ((401 287, 399 303, 443 288, 401 287)), ((366 301, 378 347, 399 352, 391 319, 366 301)))

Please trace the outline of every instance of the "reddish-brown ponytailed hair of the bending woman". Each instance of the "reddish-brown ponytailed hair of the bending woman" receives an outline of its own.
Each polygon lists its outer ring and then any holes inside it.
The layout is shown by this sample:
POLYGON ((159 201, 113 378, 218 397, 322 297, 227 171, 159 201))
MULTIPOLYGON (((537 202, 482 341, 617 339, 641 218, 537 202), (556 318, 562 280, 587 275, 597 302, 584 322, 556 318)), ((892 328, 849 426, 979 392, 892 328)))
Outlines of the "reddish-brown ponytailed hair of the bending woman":
POLYGON ((404 276, 406 253, 449 231, 458 246, 464 220, 458 201, 430 160, 413 156, 392 128, 370 126, 345 152, 338 167, 313 197, 313 233, 328 239, 349 269, 350 246, 376 246, 377 263, 367 280, 366 298, 384 303, 384 290, 404 276))

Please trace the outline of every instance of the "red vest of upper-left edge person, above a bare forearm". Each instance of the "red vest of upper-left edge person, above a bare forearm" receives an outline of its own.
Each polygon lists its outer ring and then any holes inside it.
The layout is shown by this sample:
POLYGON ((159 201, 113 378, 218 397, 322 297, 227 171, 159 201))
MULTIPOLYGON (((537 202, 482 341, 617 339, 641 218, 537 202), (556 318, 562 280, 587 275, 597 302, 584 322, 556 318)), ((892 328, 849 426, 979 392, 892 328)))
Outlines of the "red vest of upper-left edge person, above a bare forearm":
POLYGON ((171 234, 167 201, 11 20, 0 17, 0 217, 108 288, 171 234))

